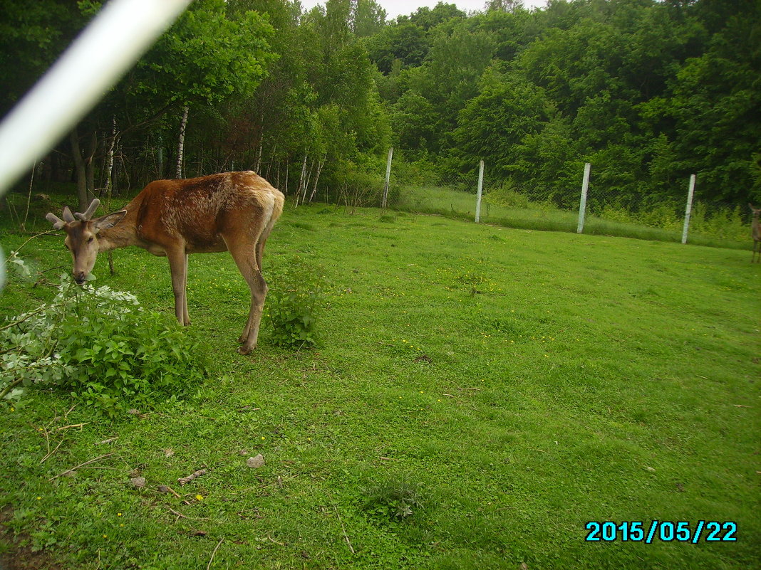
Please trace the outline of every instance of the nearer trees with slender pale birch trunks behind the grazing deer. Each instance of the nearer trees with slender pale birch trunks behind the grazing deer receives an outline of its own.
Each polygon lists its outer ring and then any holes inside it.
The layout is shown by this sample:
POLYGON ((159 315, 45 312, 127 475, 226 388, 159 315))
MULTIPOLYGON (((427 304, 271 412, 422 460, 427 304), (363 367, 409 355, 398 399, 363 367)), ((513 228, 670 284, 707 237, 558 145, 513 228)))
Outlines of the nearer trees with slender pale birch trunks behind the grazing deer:
MULTIPOLYGON (((100 5, 0 2, 0 112, 100 5)), ((374 2, 305 12, 282 0, 195 0, 37 165, 35 180, 77 182, 80 207, 152 179, 228 169, 254 169, 302 200, 317 188, 337 195, 376 170, 390 144, 361 42, 384 18, 374 2)))

